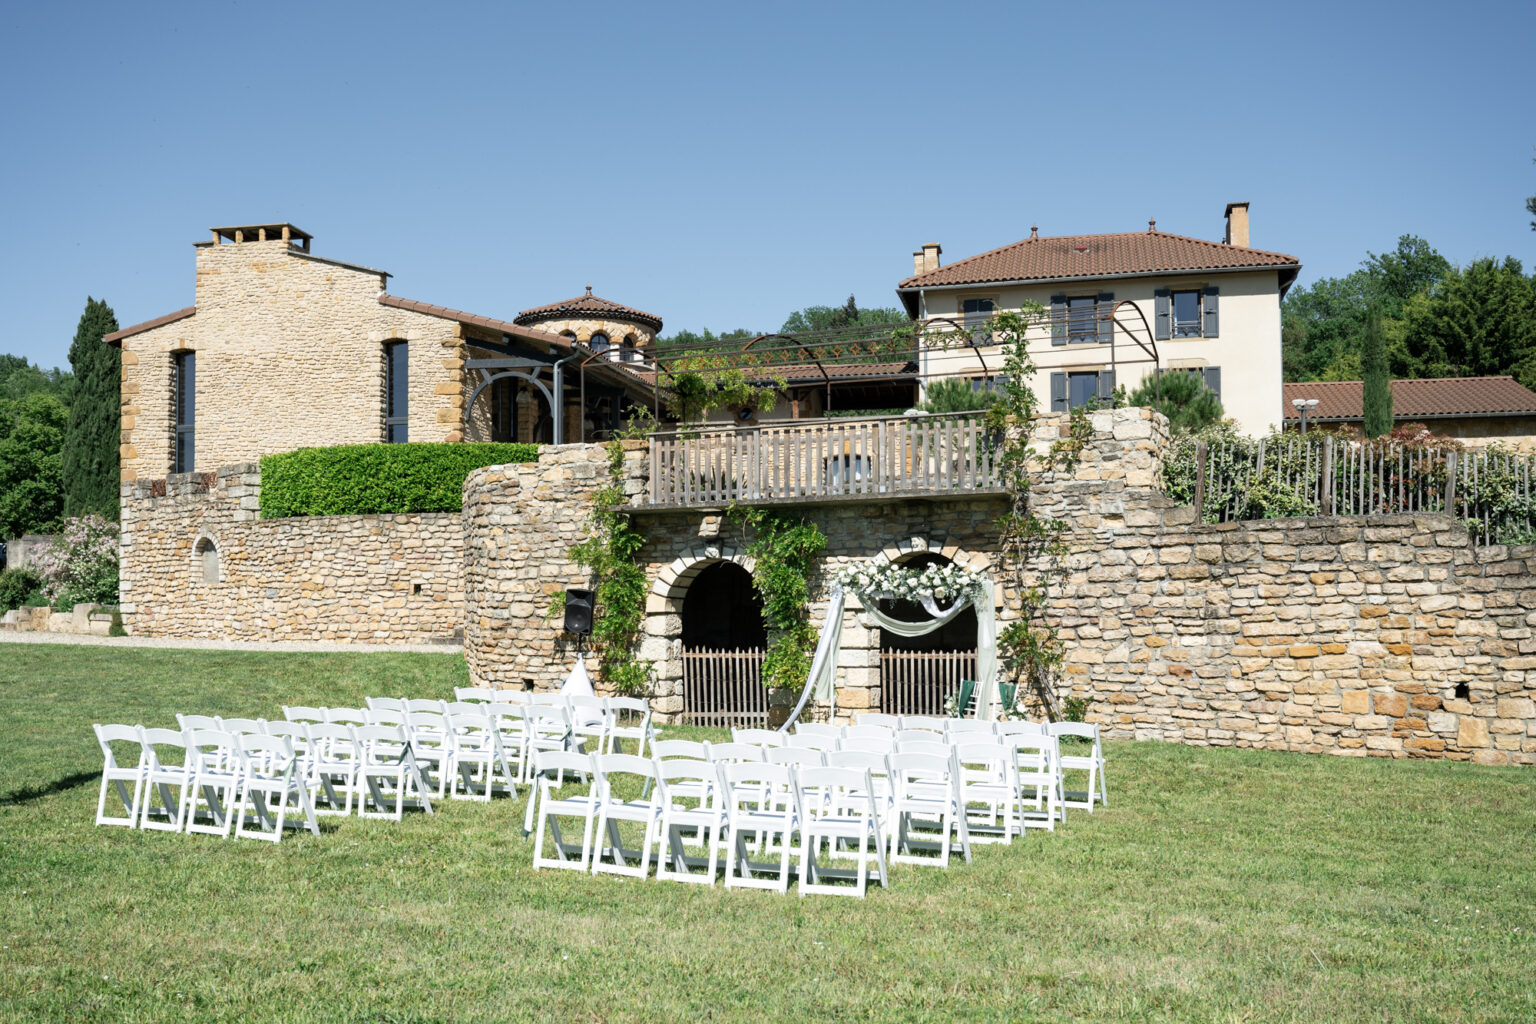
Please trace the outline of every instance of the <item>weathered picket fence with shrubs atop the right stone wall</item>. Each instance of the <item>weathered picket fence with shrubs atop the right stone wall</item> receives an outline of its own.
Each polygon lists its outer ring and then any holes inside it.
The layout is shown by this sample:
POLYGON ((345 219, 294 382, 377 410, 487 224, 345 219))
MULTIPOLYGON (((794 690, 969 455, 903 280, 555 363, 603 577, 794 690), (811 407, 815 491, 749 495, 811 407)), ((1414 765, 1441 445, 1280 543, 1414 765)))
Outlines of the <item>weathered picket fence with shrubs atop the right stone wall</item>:
POLYGON ((1164 477, 1207 520, 1260 517, 1260 504, 1273 504, 1278 493, 1296 499, 1293 514, 1445 513, 1482 543, 1533 525, 1536 456, 1338 438, 1200 441, 1192 448, 1192 457, 1175 453, 1164 477))

